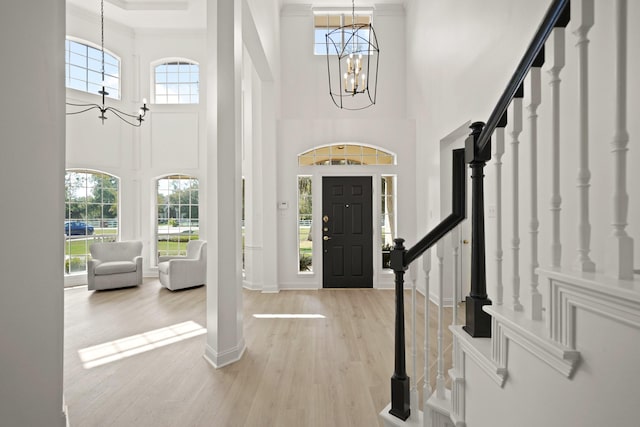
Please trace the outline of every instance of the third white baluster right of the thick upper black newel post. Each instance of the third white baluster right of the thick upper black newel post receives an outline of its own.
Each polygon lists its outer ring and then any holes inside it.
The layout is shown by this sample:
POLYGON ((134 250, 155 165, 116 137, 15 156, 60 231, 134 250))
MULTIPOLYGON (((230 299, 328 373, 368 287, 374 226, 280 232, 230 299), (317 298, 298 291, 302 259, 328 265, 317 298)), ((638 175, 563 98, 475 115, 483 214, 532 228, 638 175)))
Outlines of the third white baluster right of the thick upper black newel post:
MULTIPOLYGON (((542 66, 542 64, 538 64, 542 66)), ((529 160, 531 161, 531 220, 529 221, 529 234, 531 235, 531 312, 533 320, 542 320, 542 295, 538 291, 538 107, 542 98, 542 81, 540 79, 540 67, 533 67, 529 71, 530 99, 529 104, 529 160)))

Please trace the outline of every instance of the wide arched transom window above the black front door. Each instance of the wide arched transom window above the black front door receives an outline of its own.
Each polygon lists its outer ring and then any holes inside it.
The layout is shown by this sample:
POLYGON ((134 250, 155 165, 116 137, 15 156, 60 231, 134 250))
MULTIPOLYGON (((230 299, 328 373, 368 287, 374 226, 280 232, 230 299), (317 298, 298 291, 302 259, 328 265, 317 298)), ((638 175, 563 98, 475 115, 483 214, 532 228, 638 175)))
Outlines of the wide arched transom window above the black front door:
POLYGON ((364 145, 336 144, 314 148, 298 156, 299 166, 394 165, 395 155, 364 145))

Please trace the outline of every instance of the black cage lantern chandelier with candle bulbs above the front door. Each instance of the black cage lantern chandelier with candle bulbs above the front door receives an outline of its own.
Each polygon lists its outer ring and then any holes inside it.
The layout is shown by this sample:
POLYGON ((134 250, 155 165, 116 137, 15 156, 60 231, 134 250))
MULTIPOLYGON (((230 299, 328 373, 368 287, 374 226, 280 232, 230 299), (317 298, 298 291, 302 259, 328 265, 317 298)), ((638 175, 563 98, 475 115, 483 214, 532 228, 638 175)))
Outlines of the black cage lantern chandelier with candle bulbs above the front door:
POLYGON ((371 22, 356 23, 351 1, 351 25, 326 34, 329 94, 346 110, 362 110, 376 103, 380 49, 371 22))

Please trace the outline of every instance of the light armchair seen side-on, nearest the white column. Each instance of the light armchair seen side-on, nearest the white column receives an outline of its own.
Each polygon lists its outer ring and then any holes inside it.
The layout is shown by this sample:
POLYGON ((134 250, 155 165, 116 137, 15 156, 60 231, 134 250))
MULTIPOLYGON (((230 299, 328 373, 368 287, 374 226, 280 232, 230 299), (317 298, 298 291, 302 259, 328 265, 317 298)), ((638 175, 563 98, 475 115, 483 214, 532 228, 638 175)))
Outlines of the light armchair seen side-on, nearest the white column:
POLYGON ((161 256, 158 275, 165 288, 191 288, 207 282, 207 242, 191 240, 187 243, 187 256, 161 256))

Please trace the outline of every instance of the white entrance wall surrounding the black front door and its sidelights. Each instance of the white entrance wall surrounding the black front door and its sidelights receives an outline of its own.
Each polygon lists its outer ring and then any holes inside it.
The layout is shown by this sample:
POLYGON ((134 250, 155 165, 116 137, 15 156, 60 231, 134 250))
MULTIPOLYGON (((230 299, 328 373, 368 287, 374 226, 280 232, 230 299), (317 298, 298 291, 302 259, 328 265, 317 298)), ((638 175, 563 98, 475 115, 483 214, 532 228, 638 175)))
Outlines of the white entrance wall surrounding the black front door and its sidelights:
MULTIPOLYGON (((359 5, 366 6, 366 5, 359 5)), ((361 111, 340 110, 328 95, 327 58, 313 54, 313 11, 310 5, 285 5, 281 12, 281 120, 278 122, 279 282, 283 289, 322 287, 321 236, 314 236, 314 273, 298 273, 297 175, 313 175, 314 222, 321 222, 321 181, 326 175, 374 177, 374 213, 379 210, 380 174, 397 174, 398 236, 409 247, 415 230, 415 124, 406 118, 404 8, 374 5, 373 25, 380 45, 376 105, 361 111), (332 143, 373 145, 397 154, 395 166, 298 167, 297 156, 332 143)), ((315 230, 319 232, 319 228, 315 230)), ((374 242, 379 231, 374 230, 374 242)), ((374 243, 374 286, 391 286, 374 243)), ((407 277, 410 279, 410 277, 407 277)))

